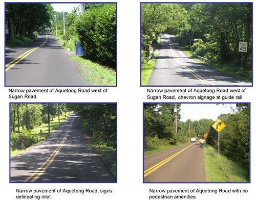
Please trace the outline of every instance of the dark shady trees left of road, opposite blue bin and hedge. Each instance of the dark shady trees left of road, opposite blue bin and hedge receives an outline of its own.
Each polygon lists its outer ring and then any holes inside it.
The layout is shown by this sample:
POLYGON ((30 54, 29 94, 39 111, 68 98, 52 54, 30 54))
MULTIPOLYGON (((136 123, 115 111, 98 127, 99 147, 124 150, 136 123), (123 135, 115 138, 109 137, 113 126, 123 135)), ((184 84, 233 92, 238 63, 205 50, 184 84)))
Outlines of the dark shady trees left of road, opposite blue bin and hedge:
POLYGON ((50 4, 6 4, 9 39, 14 40, 20 35, 34 38, 35 31, 50 27, 52 14, 50 4))

